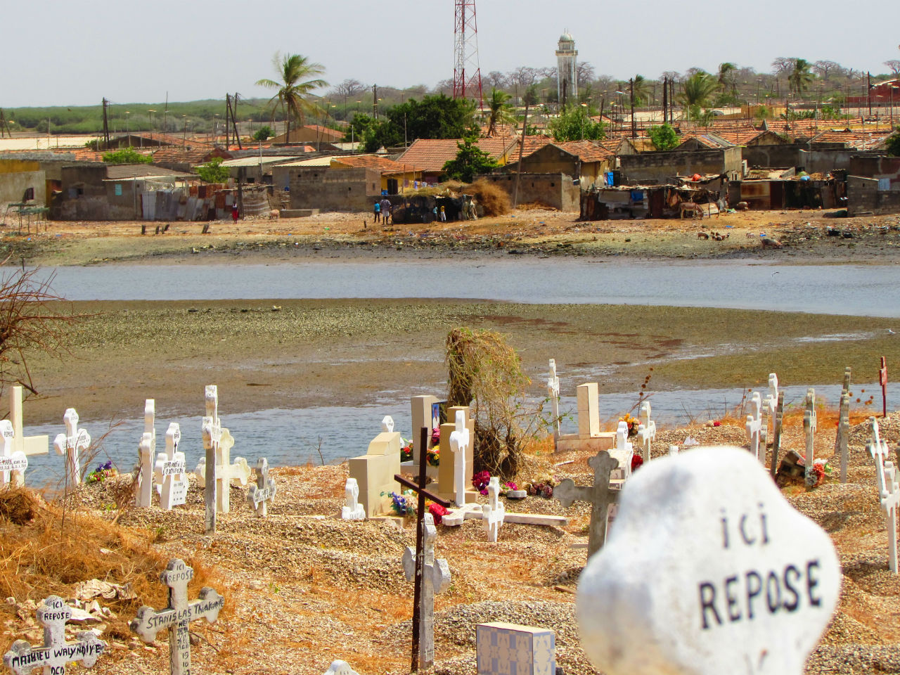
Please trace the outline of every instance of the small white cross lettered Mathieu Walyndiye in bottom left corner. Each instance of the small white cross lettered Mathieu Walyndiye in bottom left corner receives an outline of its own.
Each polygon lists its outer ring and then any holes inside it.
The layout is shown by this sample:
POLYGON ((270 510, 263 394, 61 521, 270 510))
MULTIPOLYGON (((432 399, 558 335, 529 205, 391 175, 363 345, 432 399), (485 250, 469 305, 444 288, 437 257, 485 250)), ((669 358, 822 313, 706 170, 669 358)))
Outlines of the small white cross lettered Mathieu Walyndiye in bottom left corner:
POLYGON ((70 662, 93 668, 97 657, 106 649, 106 643, 94 631, 80 631, 76 642, 66 642, 66 622, 72 617, 72 610, 58 596, 44 599, 38 606, 37 617, 44 628, 43 646, 32 647, 25 640, 16 640, 3 657, 4 665, 15 675, 28 675, 35 668, 42 668, 44 675, 65 675, 70 662))

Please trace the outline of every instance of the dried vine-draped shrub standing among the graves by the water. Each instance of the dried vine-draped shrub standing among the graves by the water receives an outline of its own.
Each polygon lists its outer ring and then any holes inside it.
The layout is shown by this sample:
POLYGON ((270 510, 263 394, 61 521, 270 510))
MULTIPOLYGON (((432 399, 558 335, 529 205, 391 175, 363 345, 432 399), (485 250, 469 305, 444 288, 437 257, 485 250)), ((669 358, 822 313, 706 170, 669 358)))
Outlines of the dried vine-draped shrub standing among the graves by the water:
POLYGON ((447 405, 472 407, 474 471, 514 478, 527 437, 521 420, 530 383, 518 353, 500 333, 458 328, 447 335, 446 362, 447 405))

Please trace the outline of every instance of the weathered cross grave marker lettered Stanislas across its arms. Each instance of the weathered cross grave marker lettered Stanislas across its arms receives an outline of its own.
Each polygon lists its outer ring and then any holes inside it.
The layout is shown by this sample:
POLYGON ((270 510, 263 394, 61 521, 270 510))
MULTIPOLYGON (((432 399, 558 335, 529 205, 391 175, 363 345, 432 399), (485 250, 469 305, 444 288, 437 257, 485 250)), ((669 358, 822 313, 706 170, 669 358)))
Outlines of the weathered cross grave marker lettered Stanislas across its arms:
POLYGON ((177 558, 169 561, 166 572, 159 575, 159 580, 169 587, 168 607, 157 612, 144 605, 129 624, 131 631, 145 643, 152 643, 159 631, 168 628, 171 675, 191 674, 191 622, 205 618, 214 624, 225 605, 225 599, 210 588, 202 589, 200 599, 189 603, 187 583, 192 579, 192 567, 177 558))

